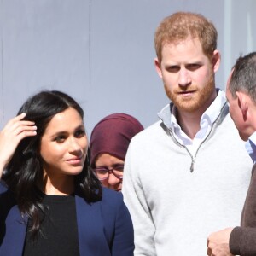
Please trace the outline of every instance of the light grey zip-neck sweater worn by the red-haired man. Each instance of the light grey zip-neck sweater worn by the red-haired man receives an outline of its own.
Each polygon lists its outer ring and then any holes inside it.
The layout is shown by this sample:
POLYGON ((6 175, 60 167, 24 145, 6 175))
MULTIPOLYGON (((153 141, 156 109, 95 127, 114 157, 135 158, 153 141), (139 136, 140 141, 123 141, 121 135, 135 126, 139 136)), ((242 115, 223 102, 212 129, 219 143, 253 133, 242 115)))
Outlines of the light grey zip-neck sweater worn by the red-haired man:
POLYGON ((122 191, 135 255, 204 256, 212 231, 240 223, 252 160, 228 112, 225 104, 197 150, 193 172, 188 148, 165 125, 170 108, 131 140, 122 191))

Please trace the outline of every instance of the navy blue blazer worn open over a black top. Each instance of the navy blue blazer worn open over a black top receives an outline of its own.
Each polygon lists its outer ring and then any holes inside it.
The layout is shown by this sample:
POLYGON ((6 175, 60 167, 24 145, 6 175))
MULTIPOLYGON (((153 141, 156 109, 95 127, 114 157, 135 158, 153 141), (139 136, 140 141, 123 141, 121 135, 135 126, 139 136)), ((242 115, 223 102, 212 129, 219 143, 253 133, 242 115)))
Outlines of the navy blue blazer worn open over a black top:
MULTIPOLYGON (((22 255, 26 220, 9 189, 0 183, 0 255, 22 255)), ((121 193, 103 189, 102 201, 87 203, 75 195, 79 252, 86 256, 133 255, 133 227, 121 193)))

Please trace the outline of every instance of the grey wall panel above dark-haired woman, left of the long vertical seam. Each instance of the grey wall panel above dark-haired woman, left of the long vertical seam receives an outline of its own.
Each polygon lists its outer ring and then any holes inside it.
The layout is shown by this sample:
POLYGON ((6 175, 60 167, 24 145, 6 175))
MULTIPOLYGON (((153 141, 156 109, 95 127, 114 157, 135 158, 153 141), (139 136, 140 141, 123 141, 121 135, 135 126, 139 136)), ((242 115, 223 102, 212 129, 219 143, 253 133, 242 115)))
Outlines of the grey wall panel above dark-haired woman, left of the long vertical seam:
POLYGON ((84 0, 2 1, 2 123, 38 90, 84 103, 89 84, 89 13, 84 0))

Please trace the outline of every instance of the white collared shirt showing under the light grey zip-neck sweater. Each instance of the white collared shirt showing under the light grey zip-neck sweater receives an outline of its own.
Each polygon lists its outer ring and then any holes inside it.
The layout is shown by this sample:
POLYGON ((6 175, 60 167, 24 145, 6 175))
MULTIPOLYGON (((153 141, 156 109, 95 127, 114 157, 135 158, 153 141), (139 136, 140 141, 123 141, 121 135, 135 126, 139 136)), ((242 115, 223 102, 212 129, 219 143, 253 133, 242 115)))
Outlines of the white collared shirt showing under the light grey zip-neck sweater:
POLYGON ((195 134, 194 139, 191 139, 190 137, 185 134, 180 125, 177 123, 177 109, 175 107, 172 108, 171 113, 171 128, 174 137, 176 137, 177 141, 181 143, 182 145, 186 146, 190 153, 192 155, 195 155, 195 152, 201 142, 207 137, 209 132, 212 129, 212 124, 214 121, 218 118, 218 115, 221 111, 221 109, 224 106, 224 103, 226 102, 226 96, 224 90, 218 90, 218 96, 215 98, 215 100, 212 102, 209 108, 207 108, 206 112, 202 114, 201 121, 200 121, 200 131, 198 131, 195 134))

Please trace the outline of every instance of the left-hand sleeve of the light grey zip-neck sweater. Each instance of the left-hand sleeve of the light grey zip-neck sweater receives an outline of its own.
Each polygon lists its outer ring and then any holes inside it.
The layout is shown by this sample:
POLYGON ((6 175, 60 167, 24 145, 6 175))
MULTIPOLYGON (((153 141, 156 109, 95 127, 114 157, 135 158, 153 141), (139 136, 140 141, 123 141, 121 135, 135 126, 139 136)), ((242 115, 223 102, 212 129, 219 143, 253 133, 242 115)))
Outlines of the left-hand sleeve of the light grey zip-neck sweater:
POLYGON ((131 213, 131 219, 135 235, 134 255, 155 256, 154 245, 154 222, 145 198, 142 184, 139 180, 138 168, 136 166, 137 155, 132 158, 133 154, 132 140, 125 156, 125 170, 122 192, 125 204, 131 213))

